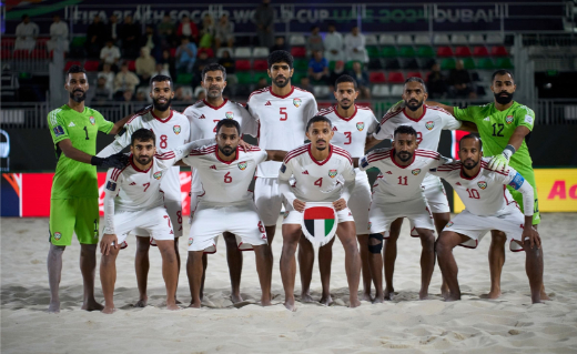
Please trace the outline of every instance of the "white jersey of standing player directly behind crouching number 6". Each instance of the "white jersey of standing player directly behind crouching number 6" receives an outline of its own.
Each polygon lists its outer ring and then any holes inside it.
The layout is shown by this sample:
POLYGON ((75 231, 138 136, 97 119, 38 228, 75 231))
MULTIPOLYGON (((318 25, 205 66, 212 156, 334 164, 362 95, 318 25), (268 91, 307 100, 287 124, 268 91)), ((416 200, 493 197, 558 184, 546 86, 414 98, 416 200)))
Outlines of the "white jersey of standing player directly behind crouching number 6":
MULTIPOLYGON (((183 112, 190 122, 190 141, 213 138, 216 135, 216 124, 223 119, 233 119, 241 124, 242 134, 250 134, 256 138, 257 123, 249 111, 241 104, 224 100, 220 107, 211 105, 205 100, 198 101, 186 108, 183 112)), ((200 176, 192 171, 191 192, 202 191, 200 176)))

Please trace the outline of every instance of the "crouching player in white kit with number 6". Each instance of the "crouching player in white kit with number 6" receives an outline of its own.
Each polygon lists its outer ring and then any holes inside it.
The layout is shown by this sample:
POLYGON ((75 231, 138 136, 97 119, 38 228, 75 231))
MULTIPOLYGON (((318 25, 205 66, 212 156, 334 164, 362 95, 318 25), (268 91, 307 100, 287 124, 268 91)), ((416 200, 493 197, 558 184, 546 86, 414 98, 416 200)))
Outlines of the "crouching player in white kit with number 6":
POLYGON ((272 254, 264 225, 249 191, 259 163, 282 161, 285 151, 263 151, 256 146, 243 151, 241 125, 223 119, 216 124, 216 143, 191 151, 182 163, 193 166, 204 195, 199 200, 189 236, 186 272, 191 289, 190 307, 200 307, 203 253, 216 252, 216 237, 229 232, 236 237, 240 251, 254 250, 261 282, 263 306, 271 305, 272 254))

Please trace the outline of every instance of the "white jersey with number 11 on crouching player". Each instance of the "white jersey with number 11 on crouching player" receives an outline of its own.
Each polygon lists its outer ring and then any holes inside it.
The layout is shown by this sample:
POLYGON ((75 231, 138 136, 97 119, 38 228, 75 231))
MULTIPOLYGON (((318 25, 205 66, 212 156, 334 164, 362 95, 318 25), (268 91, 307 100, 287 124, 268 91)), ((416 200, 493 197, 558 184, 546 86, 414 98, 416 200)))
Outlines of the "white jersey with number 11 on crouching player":
POLYGON ((451 160, 436 151, 417 149, 413 154, 413 162, 402 166, 395 161, 395 149, 387 148, 367 153, 360 160, 358 168, 362 171, 377 168, 381 173, 373 185, 375 199, 394 203, 422 198, 421 183, 427 171, 448 161, 451 160))

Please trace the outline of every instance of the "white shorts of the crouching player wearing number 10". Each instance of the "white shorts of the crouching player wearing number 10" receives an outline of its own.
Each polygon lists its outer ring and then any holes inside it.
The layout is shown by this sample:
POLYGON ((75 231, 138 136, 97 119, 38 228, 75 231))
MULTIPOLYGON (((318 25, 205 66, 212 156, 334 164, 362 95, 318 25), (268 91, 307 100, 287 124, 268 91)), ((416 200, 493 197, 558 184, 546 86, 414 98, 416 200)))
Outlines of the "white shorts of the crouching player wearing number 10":
POLYGON ((468 236, 469 240, 459 245, 467 249, 476 249, 488 231, 499 230, 507 235, 509 250, 519 252, 523 251, 523 246, 513 242, 513 240, 523 242, 524 225, 525 215, 515 204, 510 204, 505 212, 490 216, 474 215, 465 209, 460 214, 451 220, 443 231, 452 231, 468 236))

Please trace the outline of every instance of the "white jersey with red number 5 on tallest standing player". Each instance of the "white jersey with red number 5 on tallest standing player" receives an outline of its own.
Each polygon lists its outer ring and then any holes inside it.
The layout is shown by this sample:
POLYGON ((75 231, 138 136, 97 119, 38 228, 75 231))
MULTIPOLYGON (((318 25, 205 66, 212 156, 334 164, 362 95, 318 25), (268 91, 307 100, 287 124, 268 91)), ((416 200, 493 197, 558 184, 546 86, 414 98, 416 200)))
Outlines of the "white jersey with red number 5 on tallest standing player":
MULTIPOLYGON (((287 95, 273 93, 272 88, 254 91, 246 103, 259 123, 259 146, 262 150, 291 151, 306 140, 306 122, 318 111, 313 94, 293 87, 287 95)), ((281 162, 259 165, 260 178, 277 178, 281 162)))

